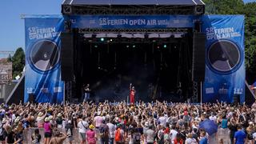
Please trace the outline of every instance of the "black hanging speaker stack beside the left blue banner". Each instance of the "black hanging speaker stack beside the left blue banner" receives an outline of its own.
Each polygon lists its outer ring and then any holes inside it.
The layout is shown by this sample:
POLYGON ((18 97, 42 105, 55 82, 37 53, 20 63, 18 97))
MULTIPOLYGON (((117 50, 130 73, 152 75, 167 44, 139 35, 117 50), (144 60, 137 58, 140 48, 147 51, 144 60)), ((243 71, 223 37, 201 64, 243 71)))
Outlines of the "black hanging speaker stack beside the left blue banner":
POLYGON ((61 74, 62 81, 74 78, 74 37, 72 33, 61 34, 61 74))

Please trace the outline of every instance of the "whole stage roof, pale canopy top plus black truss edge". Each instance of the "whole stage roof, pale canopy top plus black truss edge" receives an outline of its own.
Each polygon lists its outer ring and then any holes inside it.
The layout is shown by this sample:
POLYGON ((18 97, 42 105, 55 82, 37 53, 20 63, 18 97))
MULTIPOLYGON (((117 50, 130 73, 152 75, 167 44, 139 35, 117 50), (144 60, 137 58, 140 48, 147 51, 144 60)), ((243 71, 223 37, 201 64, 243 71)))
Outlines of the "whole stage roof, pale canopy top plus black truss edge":
POLYGON ((204 14, 202 0, 64 0, 62 14, 204 14))

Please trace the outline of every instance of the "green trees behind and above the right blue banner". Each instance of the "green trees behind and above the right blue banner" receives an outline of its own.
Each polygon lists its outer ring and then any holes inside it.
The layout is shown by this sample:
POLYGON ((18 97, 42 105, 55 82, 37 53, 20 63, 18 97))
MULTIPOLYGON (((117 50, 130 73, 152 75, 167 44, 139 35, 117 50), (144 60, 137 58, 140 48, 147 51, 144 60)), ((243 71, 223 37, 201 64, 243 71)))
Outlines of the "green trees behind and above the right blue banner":
POLYGON ((246 79, 256 78, 256 2, 243 3, 242 0, 204 0, 206 14, 244 14, 246 79))

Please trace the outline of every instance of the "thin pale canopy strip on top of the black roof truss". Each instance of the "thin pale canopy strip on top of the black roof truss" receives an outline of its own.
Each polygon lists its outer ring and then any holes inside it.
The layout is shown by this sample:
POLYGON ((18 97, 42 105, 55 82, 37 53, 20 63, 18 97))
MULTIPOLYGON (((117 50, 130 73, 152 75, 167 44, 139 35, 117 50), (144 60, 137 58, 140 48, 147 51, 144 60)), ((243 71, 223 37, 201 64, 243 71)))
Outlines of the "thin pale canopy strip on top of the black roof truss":
POLYGON ((205 5, 202 0, 64 0, 62 5, 156 5, 156 6, 195 6, 205 5))

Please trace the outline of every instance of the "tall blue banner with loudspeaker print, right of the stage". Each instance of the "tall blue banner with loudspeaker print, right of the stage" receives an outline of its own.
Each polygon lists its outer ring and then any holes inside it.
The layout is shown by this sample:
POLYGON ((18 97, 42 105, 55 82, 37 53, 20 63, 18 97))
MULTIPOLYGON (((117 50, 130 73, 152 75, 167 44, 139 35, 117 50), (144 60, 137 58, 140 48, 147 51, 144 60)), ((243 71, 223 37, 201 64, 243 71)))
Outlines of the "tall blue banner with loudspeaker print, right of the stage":
POLYGON ((244 16, 204 15, 206 76, 203 102, 245 102, 244 16))

